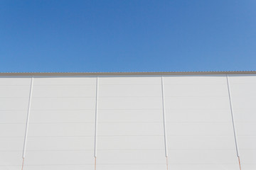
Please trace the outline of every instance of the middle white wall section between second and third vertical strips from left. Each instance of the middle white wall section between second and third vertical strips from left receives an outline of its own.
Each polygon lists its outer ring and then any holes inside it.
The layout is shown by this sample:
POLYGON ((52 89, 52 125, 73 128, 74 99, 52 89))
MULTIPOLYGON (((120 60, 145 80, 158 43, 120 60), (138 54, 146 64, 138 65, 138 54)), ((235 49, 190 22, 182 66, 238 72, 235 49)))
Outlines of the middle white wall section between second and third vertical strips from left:
POLYGON ((97 169, 166 169, 161 78, 99 82, 97 169))

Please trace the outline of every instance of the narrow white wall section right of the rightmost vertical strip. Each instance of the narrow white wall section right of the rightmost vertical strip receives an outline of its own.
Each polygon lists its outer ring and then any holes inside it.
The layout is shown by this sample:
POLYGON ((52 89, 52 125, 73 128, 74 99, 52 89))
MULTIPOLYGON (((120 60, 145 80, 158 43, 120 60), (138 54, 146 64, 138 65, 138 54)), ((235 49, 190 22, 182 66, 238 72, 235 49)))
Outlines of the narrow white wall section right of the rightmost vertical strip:
POLYGON ((229 76, 242 169, 256 169, 256 74, 229 76))

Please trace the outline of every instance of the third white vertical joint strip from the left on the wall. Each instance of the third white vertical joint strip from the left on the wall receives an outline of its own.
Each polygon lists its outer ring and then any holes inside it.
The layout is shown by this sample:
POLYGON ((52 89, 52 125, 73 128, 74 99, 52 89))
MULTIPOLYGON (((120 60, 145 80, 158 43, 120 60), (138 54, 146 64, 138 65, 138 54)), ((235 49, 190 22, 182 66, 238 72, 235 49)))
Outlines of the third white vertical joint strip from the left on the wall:
POLYGON ((164 77, 161 77, 161 93, 162 93, 162 95, 161 95, 162 96, 162 111, 163 111, 163 120, 164 120, 164 147, 165 147, 166 157, 168 157, 167 134, 166 134, 166 114, 165 114, 165 103, 164 103, 164 77))

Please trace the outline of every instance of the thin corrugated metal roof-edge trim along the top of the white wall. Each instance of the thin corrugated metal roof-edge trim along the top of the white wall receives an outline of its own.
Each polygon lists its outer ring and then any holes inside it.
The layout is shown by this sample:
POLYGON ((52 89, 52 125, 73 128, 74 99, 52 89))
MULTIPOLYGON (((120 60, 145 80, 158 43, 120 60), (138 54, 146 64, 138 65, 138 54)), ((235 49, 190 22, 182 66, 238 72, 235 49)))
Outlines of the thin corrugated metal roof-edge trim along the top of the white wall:
POLYGON ((256 74, 256 71, 227 72, 0 72, 0 76, 28 75, 163 75, 163 74, 256 74))

